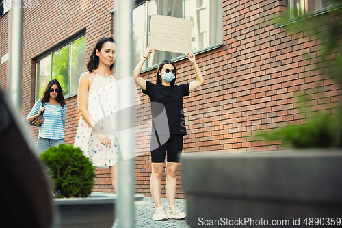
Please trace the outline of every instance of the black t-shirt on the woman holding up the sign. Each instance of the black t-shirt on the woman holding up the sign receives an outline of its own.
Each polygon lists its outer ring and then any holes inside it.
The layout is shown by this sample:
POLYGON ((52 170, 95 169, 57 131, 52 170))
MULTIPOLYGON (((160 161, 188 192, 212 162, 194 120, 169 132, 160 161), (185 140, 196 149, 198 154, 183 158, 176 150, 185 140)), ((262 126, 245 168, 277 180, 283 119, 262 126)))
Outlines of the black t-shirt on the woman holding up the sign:
MULTIPOLYGON (((183 111, 183 97, 189 96, 189 83, 179 86, 163 86, 146 81, 146 90, 142 90, 142 92, 150 97, 153 125, 160 123, 157 119, 158 116, 162 116, 159 114, 165 108, 169 132, 163 132, 163 127, 157 127, 159 129, 157 131, 158 134, 187 134, 183 111)), ((155 129, 155 126, 153 126, 153 129, 155 129)), ((154 133, 152 131, 152 134, 154 133)))

